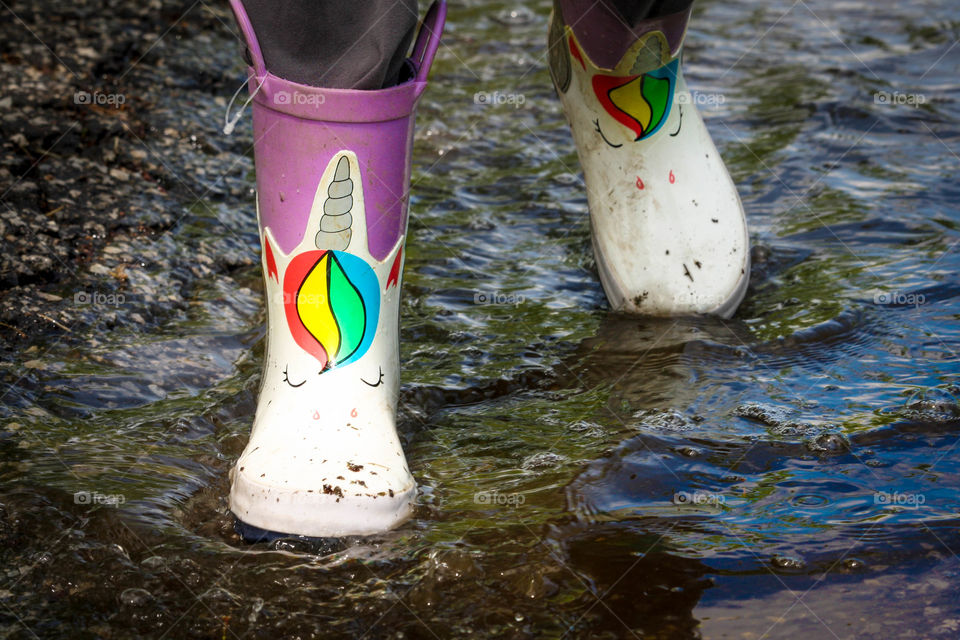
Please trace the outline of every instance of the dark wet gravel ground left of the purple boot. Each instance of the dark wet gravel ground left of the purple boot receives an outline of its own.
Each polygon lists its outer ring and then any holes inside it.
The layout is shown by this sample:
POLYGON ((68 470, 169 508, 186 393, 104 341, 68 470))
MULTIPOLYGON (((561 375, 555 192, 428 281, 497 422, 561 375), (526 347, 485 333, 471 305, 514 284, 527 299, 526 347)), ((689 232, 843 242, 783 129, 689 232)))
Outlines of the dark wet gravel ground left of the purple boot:
POLYGON ((249 120, 222 133, 245 75, 226 3, 16 1, 0 13, 6 358, 163 325, 201 280, 255 264, 249 120))

